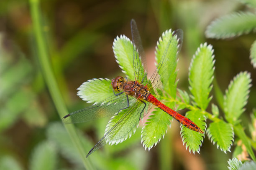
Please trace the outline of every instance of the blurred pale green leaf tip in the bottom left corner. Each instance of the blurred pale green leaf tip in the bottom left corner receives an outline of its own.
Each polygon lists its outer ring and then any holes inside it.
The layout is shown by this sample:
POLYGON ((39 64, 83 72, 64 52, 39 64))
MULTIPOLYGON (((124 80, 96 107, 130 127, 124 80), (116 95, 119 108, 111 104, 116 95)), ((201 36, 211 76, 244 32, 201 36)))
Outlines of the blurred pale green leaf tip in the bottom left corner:
POLYGON ((0 159, 0 170, 23 170, 23 168, 13 157, 4 156, 0 159))

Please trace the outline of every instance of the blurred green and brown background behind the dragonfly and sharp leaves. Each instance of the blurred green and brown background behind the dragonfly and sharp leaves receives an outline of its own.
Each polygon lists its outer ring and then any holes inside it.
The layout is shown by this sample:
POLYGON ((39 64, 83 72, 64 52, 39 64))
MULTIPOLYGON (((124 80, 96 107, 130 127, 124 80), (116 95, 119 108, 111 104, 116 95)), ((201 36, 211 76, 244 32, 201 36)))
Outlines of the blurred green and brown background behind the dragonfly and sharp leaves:
MULTIPOLYGON (((250 33, 228 40, 205 38, 215 18, 247 7, 233 0, 42 0, 41 23, 59 90, 69 112, 87 107, 77 87, 92 78, 112 79, 121 73, 113 54, 116 36, 131 39, 134 18, 146 52, 148 71, 154 71, 154 49, 163 31, 184 31, 178 62, 178 87, 188 91, 188 67, 200 43, 213 45, 215 78, 222 92, 240 71, 256 75, 249 50, 250 33)), ((251 87, 245 122, 256 101, 251 87)), ((213 98, 213 102, 215 98, 213 98)), ((87 153, 104 135, 110 118, 76 125, 87 153)), ((173 122, 164 139, 150 152, 141 145, 141 125, 131 139, 105 146, 87 158, 92 169, 215 170, 227 169, 231 153, 223 153, 205 136, 198 153, 189 153, 173 122)), ((234 148, 231 148, 231 152, 234 148)), ((0 1, 0 169, 84 169, 51 99, 38 61, 28 0, 0 1)), ((85 159, 85 158, 84 158, 85 159)))

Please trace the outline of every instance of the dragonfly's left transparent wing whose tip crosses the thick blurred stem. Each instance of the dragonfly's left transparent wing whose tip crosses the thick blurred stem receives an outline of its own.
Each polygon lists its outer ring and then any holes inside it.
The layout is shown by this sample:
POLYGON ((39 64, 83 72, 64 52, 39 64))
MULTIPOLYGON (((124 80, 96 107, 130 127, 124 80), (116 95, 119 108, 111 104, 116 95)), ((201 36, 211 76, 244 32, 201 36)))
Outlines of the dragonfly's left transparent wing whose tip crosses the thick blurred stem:
POLYGON ((118 96, 113 95, 95 105, 85 107, 82 110, 77 110, 64 116, 62 122, 65 124, 80 123, 114 115, 128 106, 127 100, 131 103, 136 99, 132 96, 125 95, 125 93, 118 96))

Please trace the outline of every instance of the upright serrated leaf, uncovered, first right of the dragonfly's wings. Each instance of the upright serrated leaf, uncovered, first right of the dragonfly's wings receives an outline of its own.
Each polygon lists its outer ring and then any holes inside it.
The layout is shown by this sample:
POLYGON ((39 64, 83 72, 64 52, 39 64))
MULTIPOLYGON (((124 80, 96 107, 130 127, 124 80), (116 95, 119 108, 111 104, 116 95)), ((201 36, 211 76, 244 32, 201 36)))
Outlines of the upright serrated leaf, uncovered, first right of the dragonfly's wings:
POLYGON ((214 72, 214 55, 212 45, 201 44, 189 66, 189 90, 196 105, 205 110, 211 100, 214 72))

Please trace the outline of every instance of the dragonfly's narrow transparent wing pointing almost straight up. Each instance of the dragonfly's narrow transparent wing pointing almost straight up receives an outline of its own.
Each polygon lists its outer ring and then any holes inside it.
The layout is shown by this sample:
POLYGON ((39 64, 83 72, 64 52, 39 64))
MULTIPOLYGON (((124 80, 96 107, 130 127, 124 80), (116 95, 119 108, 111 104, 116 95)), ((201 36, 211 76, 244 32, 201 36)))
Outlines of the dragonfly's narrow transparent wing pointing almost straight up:
POLYGON ((147 82, 147 65, 146 56, 141 43, 141 36, 135 20, 131 20, 131 34, 133 39, 133 70, 137 82, 146 84, 147 82))

